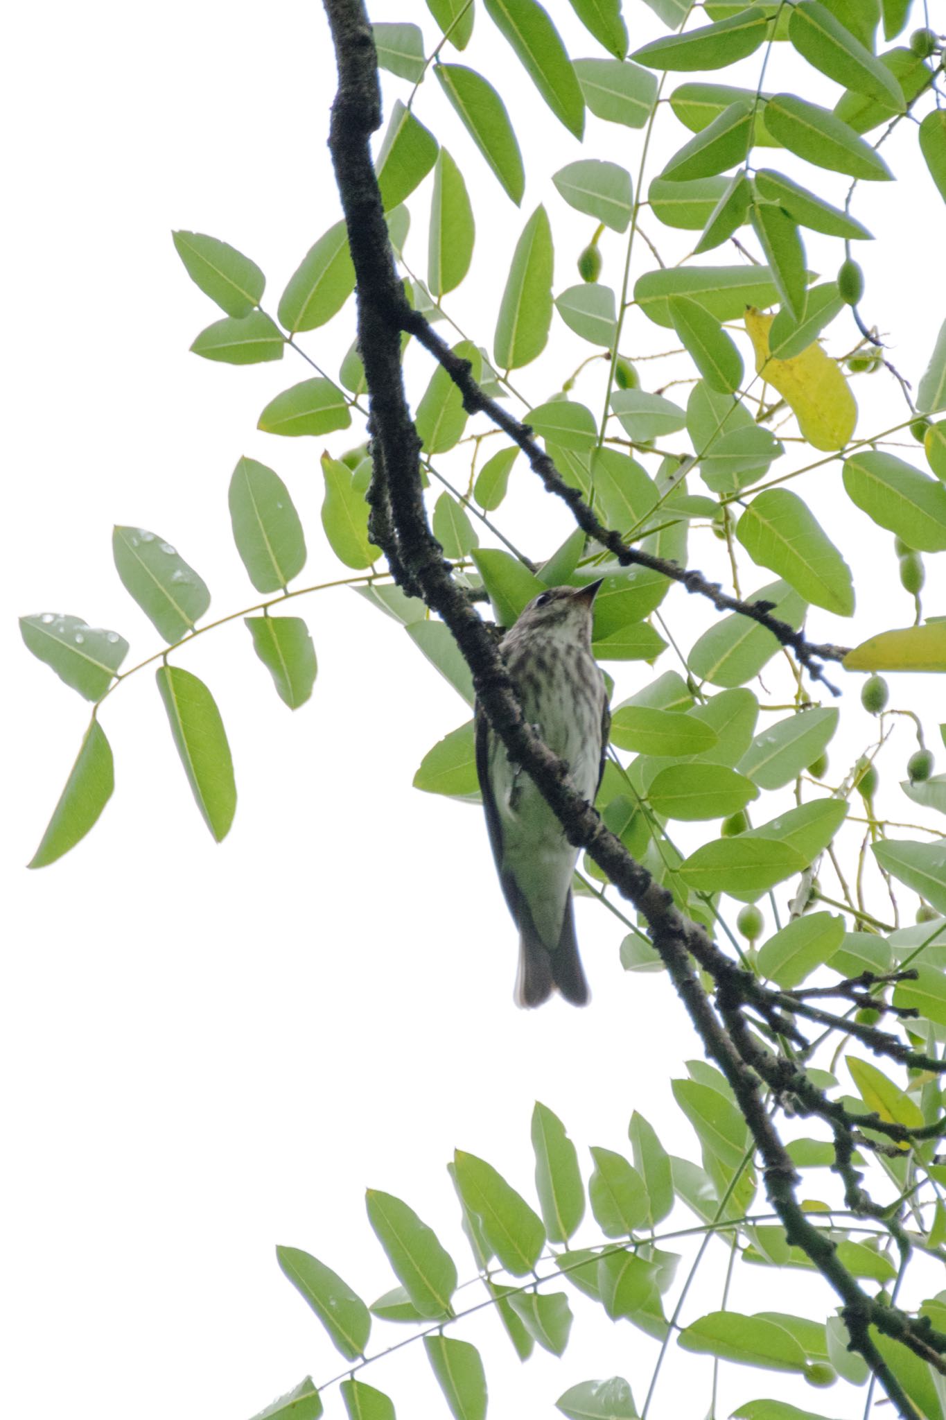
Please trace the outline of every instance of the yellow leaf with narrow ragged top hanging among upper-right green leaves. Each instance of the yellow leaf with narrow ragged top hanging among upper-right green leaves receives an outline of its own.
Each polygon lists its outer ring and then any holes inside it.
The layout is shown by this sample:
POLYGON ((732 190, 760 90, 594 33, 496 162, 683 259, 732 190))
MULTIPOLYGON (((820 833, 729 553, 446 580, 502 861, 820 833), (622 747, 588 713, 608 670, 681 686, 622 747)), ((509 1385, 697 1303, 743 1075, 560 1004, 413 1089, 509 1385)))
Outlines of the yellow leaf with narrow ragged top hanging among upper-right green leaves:
POLYGON ((801 436, 824 453, 842 449, 857 425, 857 405, 837 361, 817 341, 793 359, 773 359, 769 327, 774 317, 749 305, 745 320, 756 352, 756 373, 791 408, 801 436))

